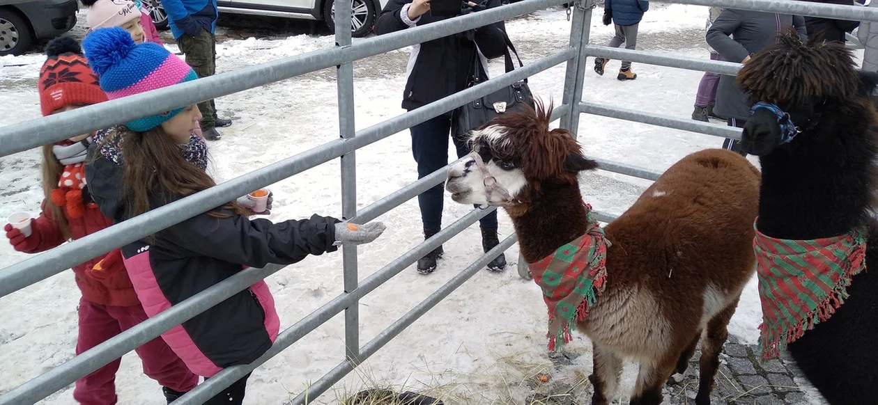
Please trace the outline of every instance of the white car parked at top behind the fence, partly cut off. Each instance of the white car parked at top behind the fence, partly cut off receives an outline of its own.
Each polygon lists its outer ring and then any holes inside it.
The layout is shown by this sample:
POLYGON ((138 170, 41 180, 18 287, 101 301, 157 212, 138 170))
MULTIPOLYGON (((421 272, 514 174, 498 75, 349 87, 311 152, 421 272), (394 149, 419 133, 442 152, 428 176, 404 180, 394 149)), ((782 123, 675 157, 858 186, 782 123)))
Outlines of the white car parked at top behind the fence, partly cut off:
MULTIPOLYGON (((168 15, 162 8, 161 0, 142 0, 149 9, 155 27, 168 28, 168 15)), ((372 31, 375 18, 388 0, 350 0, 352 15, 350 30, 354 37, 363 37, 372 31)), ((301 18, 323 21, 335 31, 335 0, 217 0, 220 13, 249 14, 301 18)))

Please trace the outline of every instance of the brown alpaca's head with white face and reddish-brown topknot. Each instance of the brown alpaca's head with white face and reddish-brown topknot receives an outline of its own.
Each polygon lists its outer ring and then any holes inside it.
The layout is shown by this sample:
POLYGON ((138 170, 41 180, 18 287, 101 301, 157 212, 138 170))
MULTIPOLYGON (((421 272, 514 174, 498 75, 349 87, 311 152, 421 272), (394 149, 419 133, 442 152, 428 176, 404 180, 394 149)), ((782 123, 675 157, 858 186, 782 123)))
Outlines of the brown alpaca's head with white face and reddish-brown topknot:
POLYGON ((549 129, 551 104, 510 112, 471 132, 472 152, 448 173, 445 188, 462 204, 511 207, 530 203, 549 185, 576 184, 597 167, 572 133, 549 129))

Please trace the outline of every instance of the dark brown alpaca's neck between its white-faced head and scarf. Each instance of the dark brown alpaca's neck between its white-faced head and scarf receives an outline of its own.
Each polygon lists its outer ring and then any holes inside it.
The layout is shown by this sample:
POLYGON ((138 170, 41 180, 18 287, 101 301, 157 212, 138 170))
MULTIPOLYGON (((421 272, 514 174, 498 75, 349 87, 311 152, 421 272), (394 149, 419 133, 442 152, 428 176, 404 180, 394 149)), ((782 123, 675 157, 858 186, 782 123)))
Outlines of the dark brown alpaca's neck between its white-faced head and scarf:
POLYGON ((529 263, 543 259, 558 246, 585 234, 587 214, 579 184, 544 187, 526 212, 512 217, 524 259, 529 263))

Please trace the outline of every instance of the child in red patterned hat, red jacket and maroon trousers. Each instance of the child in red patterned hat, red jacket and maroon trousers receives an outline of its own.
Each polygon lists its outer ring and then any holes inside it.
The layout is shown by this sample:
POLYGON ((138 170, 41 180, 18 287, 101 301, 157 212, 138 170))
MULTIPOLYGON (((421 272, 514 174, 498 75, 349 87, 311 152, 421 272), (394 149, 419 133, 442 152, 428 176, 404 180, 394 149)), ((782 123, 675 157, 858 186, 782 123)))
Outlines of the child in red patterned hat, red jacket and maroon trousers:
MULTIPOLYGON (((107 100, 75 39, 54 39, 46 53, 48 59, 40 68, 38 82, 43 116, 107 100)), ((32 219, 29 237, 10 224, 4 228, 16 251, 47 251, 112 225, 112 220, 104 217, 91 201, 85 180, 86 150, 95 135, 78 135, 42 147, 45 199, 40 217, 32 219)), ((83 293, 78 307, 77 355, 147 319, 118 249, 75 266, 73 271, 83 293)), ((162 338, 153 339, 135 352, 143 361, 144 373, 162 385, 168 402, 198 384, 198 376, 162 338)), ((115 359, 76 380, 74 399, 86 405, 115 404, 114 380, 119 364, 120 360, 115 359)))

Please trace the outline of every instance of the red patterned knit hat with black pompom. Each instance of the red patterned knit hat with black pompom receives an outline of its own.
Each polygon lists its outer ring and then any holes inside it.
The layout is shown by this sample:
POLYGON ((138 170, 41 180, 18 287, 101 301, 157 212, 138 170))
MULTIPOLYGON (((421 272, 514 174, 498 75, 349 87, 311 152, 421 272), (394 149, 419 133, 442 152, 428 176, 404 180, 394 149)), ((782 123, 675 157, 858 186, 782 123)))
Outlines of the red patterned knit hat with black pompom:
POLYGON ((66 36, 54 39, 46 47, 46 54, 48 59, 40 68, 37 84, 44 117, 66 105, 107 100, 76 39, 66 36))

